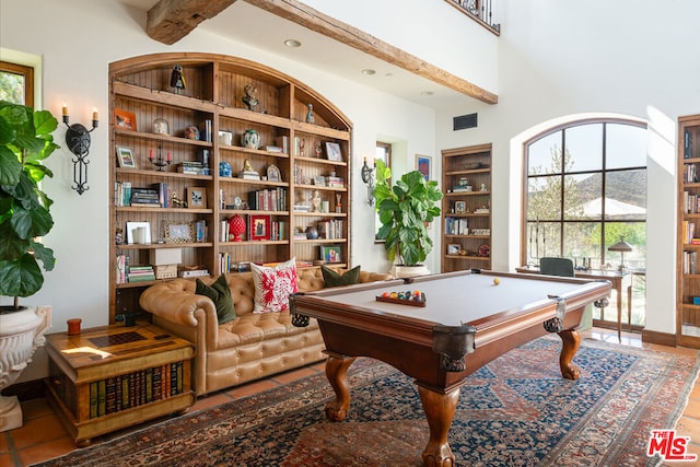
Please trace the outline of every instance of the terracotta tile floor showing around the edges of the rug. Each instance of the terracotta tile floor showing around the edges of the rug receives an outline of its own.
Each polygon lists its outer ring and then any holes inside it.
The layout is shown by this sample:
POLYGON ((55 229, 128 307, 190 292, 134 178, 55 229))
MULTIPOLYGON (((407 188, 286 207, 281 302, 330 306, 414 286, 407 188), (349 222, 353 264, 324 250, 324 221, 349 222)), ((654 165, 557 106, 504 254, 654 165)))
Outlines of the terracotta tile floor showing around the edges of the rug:
MULTIPOLYGON (((617 342, 617 334, 612 330, 593 329, 584 332, 584 337, 593 339, 617 342)), ((661 348, 665 351, 679 353, 693 353, 693 350, 682 348, 668 348, 654 345, 642 343, 637 334, 623 334, 622 345, 633 347, 661 348)), ((218 406, 231 400, 255 394, 259 390, 269 389, 283 385, 290 381, 302 378, 315 373, 324 372, 324 364, 317 363, 303 369, 293 370, 288 373, 275 375, 272 377, 235 387, 228 392, 213 394, 209 397, 198 399, 191 410, 199 410, 218 406)), ((68 437, 68 433, 54 413, 45 399, 35 399, 22 404, 24 413, 24 425, 0 433, 0 467, 24 467, 32 464, 50 459, 75 450, 73 441, 68 437)), ((131 428, 129 430, 135 430, 131 428)), ((676 427, 678 434, 690 436, 689 451, 698 454, 700 458, 700 383, 690 395, 688 406, 676 427)), ((93 443, 104 442, 115 436, 124 434, 125 431, 112 433, 94 440, 93 443)), ((700 465, 700 463, 698 463, 700 465)), ((667 463, 664 466, 685 466, 689 463, 667 463)))

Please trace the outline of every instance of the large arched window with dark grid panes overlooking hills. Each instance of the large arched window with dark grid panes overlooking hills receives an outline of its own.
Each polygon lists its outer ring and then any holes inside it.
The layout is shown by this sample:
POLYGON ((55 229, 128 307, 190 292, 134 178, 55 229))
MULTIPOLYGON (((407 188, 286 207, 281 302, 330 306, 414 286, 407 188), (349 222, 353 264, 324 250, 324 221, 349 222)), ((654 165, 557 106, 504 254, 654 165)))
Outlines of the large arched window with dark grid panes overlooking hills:
MULTIPOLYGON (((545 256, 578 267, 645 269, 646 129, 623 121, 581 121, 526 144, 522 259, 545 256), (625 241, 632 250, 608 250, 625 241)), ((614 308, 614 307, 611 307, 614 308)), ((607 315, 607 312, 606 312, 607 315)))

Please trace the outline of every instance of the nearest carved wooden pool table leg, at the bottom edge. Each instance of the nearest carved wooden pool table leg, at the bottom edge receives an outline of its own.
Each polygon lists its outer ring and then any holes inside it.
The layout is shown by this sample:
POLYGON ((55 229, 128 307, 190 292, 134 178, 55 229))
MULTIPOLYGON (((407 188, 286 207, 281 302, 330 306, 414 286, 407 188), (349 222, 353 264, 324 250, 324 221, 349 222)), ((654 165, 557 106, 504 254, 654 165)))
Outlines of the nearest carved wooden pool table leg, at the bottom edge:
POLYGON ((459 388, 443 394, 418 385, 418 394, 430 429, 430 439, 423 451, 423 463, 428 467, 454 467, 455 456, 447 443, 447 432, 457 409, 459 388))

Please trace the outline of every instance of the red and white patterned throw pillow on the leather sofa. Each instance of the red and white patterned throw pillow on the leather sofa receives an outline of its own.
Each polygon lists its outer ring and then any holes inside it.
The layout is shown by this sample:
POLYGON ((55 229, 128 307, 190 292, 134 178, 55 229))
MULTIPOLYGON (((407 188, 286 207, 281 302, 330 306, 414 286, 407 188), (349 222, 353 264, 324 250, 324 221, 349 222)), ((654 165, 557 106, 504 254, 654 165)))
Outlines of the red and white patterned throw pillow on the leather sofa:
POLYGON ((255 284, 253 313, 289 310, 289 295, 299 291, 295 258, 273 268, 250 264, 255 284))

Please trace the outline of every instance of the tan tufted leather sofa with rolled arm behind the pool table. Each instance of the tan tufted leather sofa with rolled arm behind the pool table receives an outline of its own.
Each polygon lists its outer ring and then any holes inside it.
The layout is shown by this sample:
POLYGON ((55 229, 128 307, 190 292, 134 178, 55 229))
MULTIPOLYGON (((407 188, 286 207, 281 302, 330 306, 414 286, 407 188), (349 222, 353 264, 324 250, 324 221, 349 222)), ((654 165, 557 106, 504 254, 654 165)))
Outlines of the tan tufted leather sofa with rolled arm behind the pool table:
MULTIPOLYGON (((339 269, 339 272, 345 270, 339 269)), ((298 270, 299 291, 324 288, 320 268, 298 270)), ((390 279, 361 271, 360 282, 390 279)), ((215 278, 203 279, 211 283, 215 278)), ((289 311, 253 313, 252 272, 228 275, 236 318, 219 325, 213 302, 195 294, 195 281, 174 279, 148 288, 140 299, 153 324, 195 345, 192 388, 197 396, 236 386, 324 359, 324 340, 315 319, 292 325, 289 311)))

